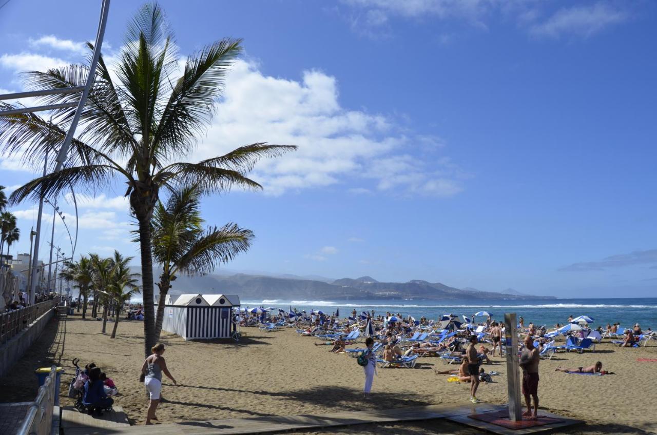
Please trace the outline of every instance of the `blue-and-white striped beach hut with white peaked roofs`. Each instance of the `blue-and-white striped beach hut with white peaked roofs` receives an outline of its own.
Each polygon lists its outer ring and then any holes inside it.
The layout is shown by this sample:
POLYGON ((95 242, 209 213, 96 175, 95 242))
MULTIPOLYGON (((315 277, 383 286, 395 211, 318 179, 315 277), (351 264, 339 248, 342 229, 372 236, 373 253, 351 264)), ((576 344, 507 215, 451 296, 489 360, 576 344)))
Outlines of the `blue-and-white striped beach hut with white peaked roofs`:
POLYGON ((237 294, 169 294, 164 302, 162 330, 185 338, 235 338, 238 325, 233 309, 237 294))

